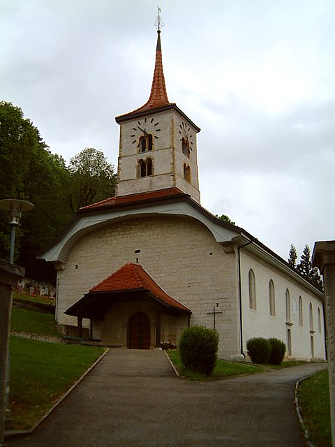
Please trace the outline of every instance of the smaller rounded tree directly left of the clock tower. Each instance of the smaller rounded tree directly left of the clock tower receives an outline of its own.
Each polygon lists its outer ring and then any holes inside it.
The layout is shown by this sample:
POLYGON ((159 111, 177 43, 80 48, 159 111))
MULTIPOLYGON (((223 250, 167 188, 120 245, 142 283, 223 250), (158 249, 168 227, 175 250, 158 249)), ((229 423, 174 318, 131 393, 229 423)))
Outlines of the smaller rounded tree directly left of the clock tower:
POLYGON ((103 152, 86 147, 70 159, 70 207, 73 212, 114 195, 117 175, 103 152))

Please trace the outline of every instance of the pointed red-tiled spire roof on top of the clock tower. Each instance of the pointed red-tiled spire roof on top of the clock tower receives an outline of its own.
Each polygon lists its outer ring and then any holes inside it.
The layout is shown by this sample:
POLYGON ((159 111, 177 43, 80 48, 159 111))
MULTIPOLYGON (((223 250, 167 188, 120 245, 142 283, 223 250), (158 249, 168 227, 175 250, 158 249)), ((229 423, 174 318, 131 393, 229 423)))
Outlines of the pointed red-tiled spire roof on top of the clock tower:
POLYGON ((168 99, 168 94, 166 92, 163 61, 162 61, 161 30, 158 29, 154 78, 152 79, 149 99, 140 108, 133 110, 133 112, 126 113, 126 115, 121 115, 120 117, 117 117, 116 120, 118 122, 119 118, 124 119, 124 117, 128 117, 129 115, 137 114, 140 112, 149 112, 150 110, 165 108, 166 106, 169 105, 174 106, 175 103, 170 103, 168 99))

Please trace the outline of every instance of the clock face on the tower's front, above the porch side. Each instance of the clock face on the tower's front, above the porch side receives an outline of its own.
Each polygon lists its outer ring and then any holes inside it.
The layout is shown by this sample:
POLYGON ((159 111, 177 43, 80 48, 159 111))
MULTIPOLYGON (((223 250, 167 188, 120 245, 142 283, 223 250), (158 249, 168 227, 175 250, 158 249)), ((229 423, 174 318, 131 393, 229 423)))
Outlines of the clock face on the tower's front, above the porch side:
POLYGON ((133 124, 131 142, 137 145, 140 152, 153 149, 154 140, 158 140, 161 132, 159 122, 156 118, 142 118, 133 124))

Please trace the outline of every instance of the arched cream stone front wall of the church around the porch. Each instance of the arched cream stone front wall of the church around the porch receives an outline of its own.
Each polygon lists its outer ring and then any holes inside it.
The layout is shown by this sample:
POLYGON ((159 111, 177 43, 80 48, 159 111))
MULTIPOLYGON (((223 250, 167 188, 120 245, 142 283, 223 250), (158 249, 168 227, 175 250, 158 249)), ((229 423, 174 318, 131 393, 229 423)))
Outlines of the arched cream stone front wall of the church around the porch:
MULTIPOLYGON (((236 258, 225 254, 202 223, 188 217, 151 215, 112 223, 82 237, 70 252, 65 270, 59 272, 58 323, 76 325, 74 317, 64 314, 66 309, 136 258, 166 293, 191 309, 191 325, 213 328, 211 312, 218 303, 219 356, 239 353, 236 258)), ((122 318, 125 321, 125 315, 122 318)), ((175 318, 170 323, 162 318, 162 322, 162 341, 177 341, 180 322, 175 318)), ((89 327, 89 321, 83 325, 89 327)))

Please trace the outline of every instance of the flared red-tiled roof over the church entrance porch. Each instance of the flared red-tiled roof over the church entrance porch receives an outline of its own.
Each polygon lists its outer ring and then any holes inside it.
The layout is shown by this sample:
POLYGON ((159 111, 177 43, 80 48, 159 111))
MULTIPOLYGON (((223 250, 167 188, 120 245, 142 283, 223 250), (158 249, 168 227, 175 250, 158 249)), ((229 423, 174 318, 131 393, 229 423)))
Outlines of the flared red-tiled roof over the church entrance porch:
POLYGON ((165 293, 140 264, 127 263, 110 277, 90 288, 89 293, 141 290, 149 292, 156 300, 168 307, 182 312, 191 312, 190 309, 165 293))

